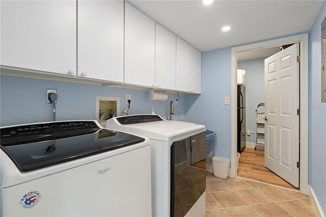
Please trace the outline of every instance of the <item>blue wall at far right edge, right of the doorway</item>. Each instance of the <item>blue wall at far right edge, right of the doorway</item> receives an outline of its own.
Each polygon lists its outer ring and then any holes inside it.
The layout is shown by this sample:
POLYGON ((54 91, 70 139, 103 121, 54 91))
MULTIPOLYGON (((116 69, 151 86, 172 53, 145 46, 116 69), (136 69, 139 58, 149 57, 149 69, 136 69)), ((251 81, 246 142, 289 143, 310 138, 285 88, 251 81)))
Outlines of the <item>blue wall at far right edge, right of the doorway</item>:
POLYGON ((326 103, 320 102, 321 22, 326 2, 314 22, 309 38, 309 184, 326 214, 326 103))

